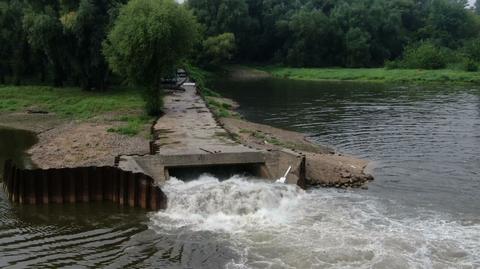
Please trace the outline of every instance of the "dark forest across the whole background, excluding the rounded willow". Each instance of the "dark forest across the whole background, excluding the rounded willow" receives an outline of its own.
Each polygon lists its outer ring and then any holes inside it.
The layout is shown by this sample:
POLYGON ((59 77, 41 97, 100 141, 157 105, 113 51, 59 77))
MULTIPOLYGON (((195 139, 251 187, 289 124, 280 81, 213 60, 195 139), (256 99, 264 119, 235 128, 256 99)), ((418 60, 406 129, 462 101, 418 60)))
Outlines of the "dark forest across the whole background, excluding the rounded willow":
MULTIPOLYGON (((103 49, 119 10, 129 2, 0 0, 0 83, 103 90, 131 81, 112 72, 115 65, 107 64, 112 61, 103 49)), ((466 0, 187 0, 175 5, 188 9, 195 16, 189 21, 201 25, 195 26, 199 38, 189 43, 194 53, 175 57, 204 66, 476 71, 480 61, 478 1, 472 7, 466 0)))

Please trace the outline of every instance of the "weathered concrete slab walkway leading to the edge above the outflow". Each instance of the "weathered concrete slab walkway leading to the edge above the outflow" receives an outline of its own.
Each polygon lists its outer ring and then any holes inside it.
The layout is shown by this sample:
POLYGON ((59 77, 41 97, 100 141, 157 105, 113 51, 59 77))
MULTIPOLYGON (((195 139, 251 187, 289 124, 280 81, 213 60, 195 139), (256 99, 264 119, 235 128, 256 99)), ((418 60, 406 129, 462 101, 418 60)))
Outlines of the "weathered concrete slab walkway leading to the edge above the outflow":
POLYGON ((156 136, 148 156, 122 156, 119 167, 142 172, 163 184, 169 169, 271 163, 269 153, 234 141, 213 117, 195 84, 164 97, 165 114, 153 126, 156 136))

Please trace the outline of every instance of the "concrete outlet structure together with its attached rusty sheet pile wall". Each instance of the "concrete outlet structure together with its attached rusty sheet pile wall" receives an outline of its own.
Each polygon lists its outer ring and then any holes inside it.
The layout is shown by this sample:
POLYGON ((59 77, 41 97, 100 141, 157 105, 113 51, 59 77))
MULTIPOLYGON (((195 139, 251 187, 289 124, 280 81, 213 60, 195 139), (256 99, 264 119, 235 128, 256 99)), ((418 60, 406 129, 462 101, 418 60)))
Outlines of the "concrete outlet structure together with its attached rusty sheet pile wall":
POLYGON ((112 201, 121 206, 160 210, 167 206, 161 186, 171 177, 203 172, 225 177, 239 173, 305 185, 305 156, 262 150, 235 141, 214 119, 195 84, 165 97, 165 115, 153 126, 151 155, 118 156, 112 167, 19 169, 7 161, 4 187, 20 204, 112 201))

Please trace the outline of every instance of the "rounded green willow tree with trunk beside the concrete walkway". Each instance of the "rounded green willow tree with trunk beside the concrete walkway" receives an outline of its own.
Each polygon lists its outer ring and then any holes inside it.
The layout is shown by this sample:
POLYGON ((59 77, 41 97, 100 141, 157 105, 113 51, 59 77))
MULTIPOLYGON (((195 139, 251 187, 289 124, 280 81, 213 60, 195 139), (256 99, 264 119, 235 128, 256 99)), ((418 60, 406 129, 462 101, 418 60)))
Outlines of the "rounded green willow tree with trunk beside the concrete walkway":
POLYGON ((113 72, 145 90, 149 115, 161 112, 161 81, 197 42, 193 14, 174 0, 133 0, 120 10, 104 43, 113 72))

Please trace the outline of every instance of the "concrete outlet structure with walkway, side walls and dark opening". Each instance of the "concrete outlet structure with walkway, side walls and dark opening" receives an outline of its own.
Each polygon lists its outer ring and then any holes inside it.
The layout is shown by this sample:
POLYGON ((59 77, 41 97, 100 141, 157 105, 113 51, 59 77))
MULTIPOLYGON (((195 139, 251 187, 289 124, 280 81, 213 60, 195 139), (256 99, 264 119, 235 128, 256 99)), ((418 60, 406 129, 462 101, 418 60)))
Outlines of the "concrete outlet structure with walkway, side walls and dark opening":
POLYGON ((188 172, 246 172, 276 180, 288 167, 287 182, 304 184, 305 158, 289 150, 266 151, 235 141, 215 120, 194 83, 164 99, 165 115, 153 126, 152 155, 120 156, 118 166, 150 175, 163 185, 171 176, 188 172))

